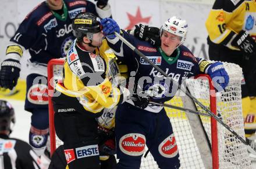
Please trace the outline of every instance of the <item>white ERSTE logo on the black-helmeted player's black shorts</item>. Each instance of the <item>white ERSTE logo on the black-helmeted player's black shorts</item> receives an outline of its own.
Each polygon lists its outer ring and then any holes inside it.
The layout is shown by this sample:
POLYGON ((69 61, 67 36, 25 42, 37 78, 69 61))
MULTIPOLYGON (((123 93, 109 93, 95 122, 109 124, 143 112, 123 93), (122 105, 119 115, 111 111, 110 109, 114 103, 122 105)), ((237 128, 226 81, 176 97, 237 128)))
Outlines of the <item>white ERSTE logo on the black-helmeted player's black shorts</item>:
POLYGON ((76 148, 77 159, 90 157, 90 156, 98 156, 98 155, 99 155, 98 145, 88 145, 88 146, 76 148))

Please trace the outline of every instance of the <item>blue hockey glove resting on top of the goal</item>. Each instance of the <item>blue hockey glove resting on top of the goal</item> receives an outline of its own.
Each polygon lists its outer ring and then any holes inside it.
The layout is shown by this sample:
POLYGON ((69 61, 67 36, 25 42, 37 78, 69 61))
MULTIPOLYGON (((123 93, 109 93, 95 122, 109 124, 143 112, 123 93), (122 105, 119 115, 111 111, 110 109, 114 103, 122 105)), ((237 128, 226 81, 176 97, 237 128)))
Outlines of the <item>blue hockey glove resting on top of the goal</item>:
POLYGON ((209 65, 205 73, 211 76, 216 91, 222 91, 229 84, 229 75, 221 62, 209 65))

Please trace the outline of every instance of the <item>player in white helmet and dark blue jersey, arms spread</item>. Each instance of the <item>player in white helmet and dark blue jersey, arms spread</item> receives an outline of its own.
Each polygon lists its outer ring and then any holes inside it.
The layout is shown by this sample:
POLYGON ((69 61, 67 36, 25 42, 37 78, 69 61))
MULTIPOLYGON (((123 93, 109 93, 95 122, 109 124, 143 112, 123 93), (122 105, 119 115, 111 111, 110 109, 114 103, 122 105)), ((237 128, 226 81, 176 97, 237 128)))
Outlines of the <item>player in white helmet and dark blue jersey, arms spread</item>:
MULTIPOLYGON (((229 83, 229 76, 223 64, 196 58, 182 45, 186 39, 187 24, 185 20, 177 17, 168 19, 162 25, 159 31, 161 42, 158 46, 148 43, 154 42, 154 38, 144 39, 148 42, 140 41, 126 31, 120 31, 118 24, 112 19, 103 19, 101 24, 109 47, 123 63, 127 64, 130 72, 128 84, 136 84, 133 88, 133 97, 136 99, 119 105, 116 111, 115 134, 119 159, 117 168, 140 168, 145 145, 159 168, 179 168, 179 152, 169 117, 162 106, 148 104, 149 99, 155 102, 170 100, 177 87, 173 87, 170 80, 123 44, 113 32, 120 33, 179 84, 182 84, 183 79, 201 72, 210 75, 211 78, 217 78, 215 88, 222 90, 229 83)), ((143 38, 144 28, 141 28, 138 36, 143 38)))

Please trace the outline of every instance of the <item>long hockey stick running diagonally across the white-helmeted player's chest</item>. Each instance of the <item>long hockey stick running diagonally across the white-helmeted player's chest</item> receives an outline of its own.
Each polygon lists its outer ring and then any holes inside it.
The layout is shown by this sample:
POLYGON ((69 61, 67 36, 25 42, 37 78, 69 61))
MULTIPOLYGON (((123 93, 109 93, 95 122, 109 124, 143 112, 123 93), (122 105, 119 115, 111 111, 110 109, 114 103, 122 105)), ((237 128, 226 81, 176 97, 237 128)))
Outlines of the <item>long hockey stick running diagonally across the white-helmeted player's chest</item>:
POLYGON ((219 122, 220 124, 222 124, 223 127, 225 127, 227 130, 230 131, 230 133, 232 133, 236 138, 238 138, 241 142, 243 142, 243 144, 246 145, 247 150, 252 153, 253 155, 256 155, 256 152, 251 148, 251 146, 248 144, 248 142, 246 141, 246 139, 244 139, 243 137, 241 137, 239 134, 236 133, 236 131, 234 131, 232 128, 230 128, 229 126, 227 126, 226 123, 224 123, 222 121, 222 119, 220 119, 218 116, 216 116, 213 112, 211 112, 207 106, 203 105, 200 101, 197 100, 197 98, 195 98, 193 95, 191 95, 189 93, 189 91, 182 89, 182 87, 180 86, 180 84, 176 83, 168 74, 166 74, 161 68, 159 68, 157 65, 155 65, 154 63, 152 63, 152 61, 150 59, 148 59, 147 57, 144 56, 143 53, 141 53, 138 49, 136 49, 136 47, 134 47, 133 45, 131 45, 130 42, 126 41, 125 38, 123 38, 123 36, 119 35, 118 32, 115 32, 115 35, 123 42, 125 43, 125 45, 127 45, 128 47, 130 47, 131 50, 133 50, 133 52, 135 52, 136 54, 138 54, 138 56, 142 57, 145 61, 147 61, 150 65, 152 65, 152 67, 154 67, 155 69, 157 69, 158 72, 160 72, 163 76, 165 76, 165 78, 169 78, 170 81, 173 83, 173 85, 175 85, 177 87, 177 89, 180 89, 181 91, 183 91, 189 98, 191 98, 191 100, 193 100, 197 105, 199 105, 205 112, 207 112, 211 117, 214 117, 214 119, 219 122))

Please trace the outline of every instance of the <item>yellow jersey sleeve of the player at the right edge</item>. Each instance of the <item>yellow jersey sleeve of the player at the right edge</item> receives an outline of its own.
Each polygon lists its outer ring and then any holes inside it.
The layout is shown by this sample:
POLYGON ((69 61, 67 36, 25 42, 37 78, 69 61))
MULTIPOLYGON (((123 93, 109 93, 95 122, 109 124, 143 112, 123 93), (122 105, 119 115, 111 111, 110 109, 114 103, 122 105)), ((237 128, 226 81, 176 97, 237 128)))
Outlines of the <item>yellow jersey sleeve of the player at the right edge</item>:
POLYGON ((245 10, 243 0, 216 0, 205 23, 211 42, 239 50, 231 42, 243 28, 245 10))

